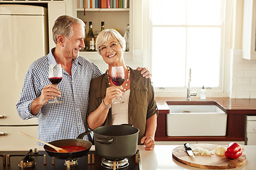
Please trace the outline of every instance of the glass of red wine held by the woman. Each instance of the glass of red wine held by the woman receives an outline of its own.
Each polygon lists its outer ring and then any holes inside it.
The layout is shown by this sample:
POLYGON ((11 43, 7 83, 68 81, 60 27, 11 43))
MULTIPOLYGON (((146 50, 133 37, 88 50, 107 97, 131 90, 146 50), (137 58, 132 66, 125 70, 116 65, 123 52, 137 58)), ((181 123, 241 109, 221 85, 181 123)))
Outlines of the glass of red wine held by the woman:
MULTIPOLYGON (((112 67, 111 79, 114 85, 121 86, 124 83, 124 68, 122 66, 112 67)), ((121 96, 117 97, 114 104, 124 103, 121 96)))

